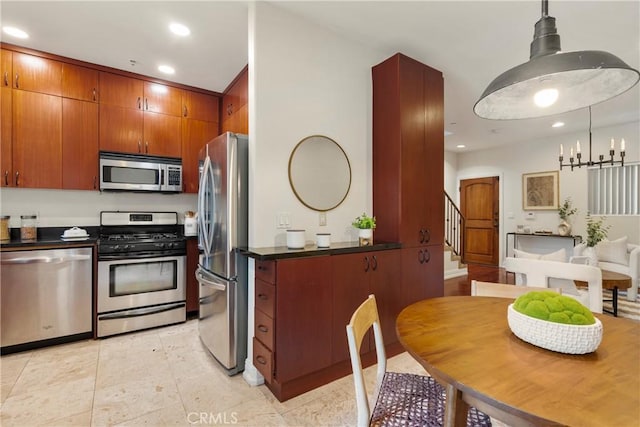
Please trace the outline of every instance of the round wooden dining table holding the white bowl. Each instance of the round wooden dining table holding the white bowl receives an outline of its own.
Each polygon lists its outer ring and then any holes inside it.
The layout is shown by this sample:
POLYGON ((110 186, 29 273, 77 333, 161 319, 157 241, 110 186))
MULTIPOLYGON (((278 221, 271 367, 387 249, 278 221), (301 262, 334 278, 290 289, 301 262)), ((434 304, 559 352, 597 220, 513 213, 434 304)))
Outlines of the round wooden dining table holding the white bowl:
POLYGON ((447 390, 445 425, 465 425, 469 405, 511 426, 640 425, 640 322, 596 314, 597 350, 557 353, 511 332, 512 302, 432 298, 399 314, 400 343, 447 390))

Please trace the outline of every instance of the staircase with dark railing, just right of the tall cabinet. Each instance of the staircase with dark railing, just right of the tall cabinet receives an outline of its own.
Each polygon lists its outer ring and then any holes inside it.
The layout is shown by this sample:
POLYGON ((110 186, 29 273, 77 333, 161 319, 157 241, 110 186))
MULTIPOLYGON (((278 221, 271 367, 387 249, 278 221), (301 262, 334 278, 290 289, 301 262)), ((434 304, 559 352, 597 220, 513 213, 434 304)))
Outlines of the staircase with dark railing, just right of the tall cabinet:
POLYGON ((444 278, 464 276, 467 266, 464 259, 464 217, 460 209, 444 192, 444 278))

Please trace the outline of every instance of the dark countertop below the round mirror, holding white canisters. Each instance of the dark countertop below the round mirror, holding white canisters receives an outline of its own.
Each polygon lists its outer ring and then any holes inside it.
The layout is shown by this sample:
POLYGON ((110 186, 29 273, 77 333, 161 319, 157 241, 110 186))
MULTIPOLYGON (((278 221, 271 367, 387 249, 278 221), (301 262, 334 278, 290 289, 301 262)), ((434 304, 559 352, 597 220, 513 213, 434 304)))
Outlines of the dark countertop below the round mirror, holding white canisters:
POLYGON ((316 245, 307 245, 304 249, 289 249, 286 246, 270 246, 264 248, 240 247, 238 252, 249 258, 261 261, 302 258, 320 255, 340 255, 358 252, 384 251, 387 249, 399 249, 402 245, 396 242, 376 242, 372 246, 359 246, 358 242, 331 242, 329 248, 318 248, 316 245))

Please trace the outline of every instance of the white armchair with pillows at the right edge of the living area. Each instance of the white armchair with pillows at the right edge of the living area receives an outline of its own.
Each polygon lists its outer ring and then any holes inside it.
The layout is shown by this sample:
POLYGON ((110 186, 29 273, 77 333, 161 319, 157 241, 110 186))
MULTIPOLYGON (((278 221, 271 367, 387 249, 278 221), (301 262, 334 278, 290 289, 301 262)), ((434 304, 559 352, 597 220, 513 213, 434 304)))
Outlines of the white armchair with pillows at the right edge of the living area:
MULTIPOLYGON (((585 243, 577 245, 573 248, 573 255, 582 256, 586 247, 585 243)), ((640 245, 627 243, 627 238, 622 237, 598 243, 596 253, 598 254, 599 268, 631 277, 631 288, 620 290, 627 291, 629 301, 635 301, 638 296, 640 279, 640 245)))

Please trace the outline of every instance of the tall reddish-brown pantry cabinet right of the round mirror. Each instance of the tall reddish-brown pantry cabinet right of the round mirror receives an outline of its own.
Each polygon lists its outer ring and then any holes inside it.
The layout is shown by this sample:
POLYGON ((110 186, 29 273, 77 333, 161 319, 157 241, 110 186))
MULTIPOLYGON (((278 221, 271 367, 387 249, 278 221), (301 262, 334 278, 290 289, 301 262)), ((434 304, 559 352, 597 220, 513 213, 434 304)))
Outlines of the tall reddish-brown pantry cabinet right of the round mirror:
POLYGON ((444 81, 400 53, 372 74, 375 238, 402 243, 406 305, 444 293, 444 81))

